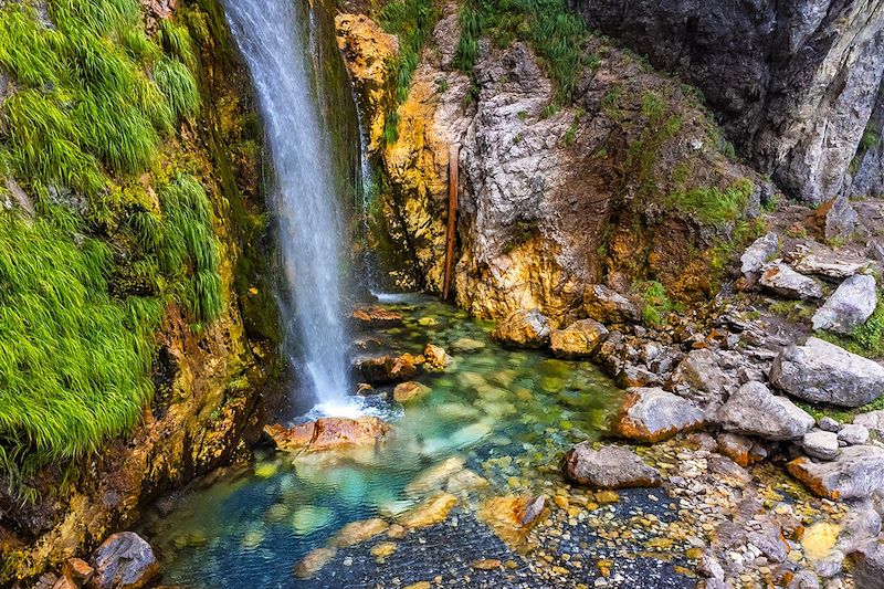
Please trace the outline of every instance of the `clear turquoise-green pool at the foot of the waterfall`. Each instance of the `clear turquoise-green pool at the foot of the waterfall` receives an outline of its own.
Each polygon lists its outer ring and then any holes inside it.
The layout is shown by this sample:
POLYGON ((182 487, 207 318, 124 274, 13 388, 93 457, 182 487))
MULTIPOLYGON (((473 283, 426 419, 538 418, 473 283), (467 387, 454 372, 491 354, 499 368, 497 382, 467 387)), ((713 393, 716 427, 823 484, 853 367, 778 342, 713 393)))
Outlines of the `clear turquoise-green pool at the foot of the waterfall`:
POLYGON ((420 376, 432 390, 404 407, 387 400, 389 389, 364 401, 392 424, 377 451, 294 461, 265 452, 181 497, 171 514, 147 517, 143 532, 162 560, 165 582, 297 587, 292 569, 307 553, 349 522, 407 508, 419 497, 406 485, 452 455, 490 481, 483 493, 548 491, 561 453, 594 437, 618 395, 589 362, 503 349, 490 340, 490 324, 434 299, 398 296, 386 306, 406 322, 361 334, 379 340, 372 354, 418 354, 432 341, 449 350, 453 365, 420 376), (471 346, 477 349, 466 351, 471 346))

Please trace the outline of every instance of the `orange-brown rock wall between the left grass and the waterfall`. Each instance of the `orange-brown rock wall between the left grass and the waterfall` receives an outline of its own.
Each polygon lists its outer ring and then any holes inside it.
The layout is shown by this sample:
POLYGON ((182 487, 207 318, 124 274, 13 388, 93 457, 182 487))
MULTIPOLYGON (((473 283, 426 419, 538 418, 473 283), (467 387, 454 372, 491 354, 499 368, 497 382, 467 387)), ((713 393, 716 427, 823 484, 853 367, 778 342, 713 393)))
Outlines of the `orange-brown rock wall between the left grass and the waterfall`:
MULTIPOLYGON (((25 483, 38 492, 35 501, 8 493, 4 471, 4 587, 87 554, 108 534, 134 524, 145 503, 159 493, 248 452, 244 440, 256 423, 259 393, 274 370, 277 322, 271 285, 262 278, 272 263, 267 252, 273 243, 259 190, 261 136, 248 76, 231 51, 219 3, 175 9, 165 2, 144 4, 138 27, 148 34, 172 18, 189 29, 198 50, 193 70, 202 108, 164 138, 159 161, 138 182, 149 190, 179 166, 198 178, 213 211, 223 305, 211 322, 193 325, 192 313, 166 299, 154 341, 152 402, 130 434, 108 441, 84 460, 29 476, 25 483)), ((21 202, 32 200, 27 189, 14 186, 22 200, 8 203, 9 211, 0 208, 0 215, 18 214, 21 202)))

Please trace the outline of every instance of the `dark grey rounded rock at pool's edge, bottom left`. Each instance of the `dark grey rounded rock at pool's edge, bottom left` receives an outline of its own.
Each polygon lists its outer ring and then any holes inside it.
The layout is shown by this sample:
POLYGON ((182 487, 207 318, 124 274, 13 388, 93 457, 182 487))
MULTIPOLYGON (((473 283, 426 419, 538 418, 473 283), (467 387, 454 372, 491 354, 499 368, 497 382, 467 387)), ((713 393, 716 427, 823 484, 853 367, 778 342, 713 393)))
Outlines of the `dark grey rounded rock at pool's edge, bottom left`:
POLYGON ((92 554, 94 589, 138 589, 159 574, 154 550, 134 532, 119 532, 108 537, 92 554))

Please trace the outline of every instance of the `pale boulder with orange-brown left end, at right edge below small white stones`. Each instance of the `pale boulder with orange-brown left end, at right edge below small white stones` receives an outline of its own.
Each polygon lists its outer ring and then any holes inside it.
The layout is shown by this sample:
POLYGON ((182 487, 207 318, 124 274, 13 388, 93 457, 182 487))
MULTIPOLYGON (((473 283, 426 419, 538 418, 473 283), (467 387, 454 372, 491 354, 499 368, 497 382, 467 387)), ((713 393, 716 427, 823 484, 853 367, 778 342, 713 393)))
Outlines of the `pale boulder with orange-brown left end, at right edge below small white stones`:
POLYGON ((789 473, 820 497, 851 499, 884 491, 884 450, 871 445, 841 449, 832 462, 807 457, 787 464, 789 473))

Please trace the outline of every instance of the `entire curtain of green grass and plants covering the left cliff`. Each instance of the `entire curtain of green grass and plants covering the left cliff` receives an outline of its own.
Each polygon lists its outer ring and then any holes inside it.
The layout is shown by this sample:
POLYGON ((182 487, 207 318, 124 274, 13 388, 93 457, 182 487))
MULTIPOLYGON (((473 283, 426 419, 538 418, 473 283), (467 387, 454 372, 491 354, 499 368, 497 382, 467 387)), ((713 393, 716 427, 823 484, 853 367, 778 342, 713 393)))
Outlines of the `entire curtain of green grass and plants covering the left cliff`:
POLYGON ((167 303, 197 326, 223 306, 211 203, 158 161, 200 108, 187 29, 164 21, 156 42, 137 0, 50 0, 49 17, 0 9, 15 87, 0 185, 18 180, 38 211, 0 211, 0 461, 22 496, 36 469, 139 419, 167 303))

